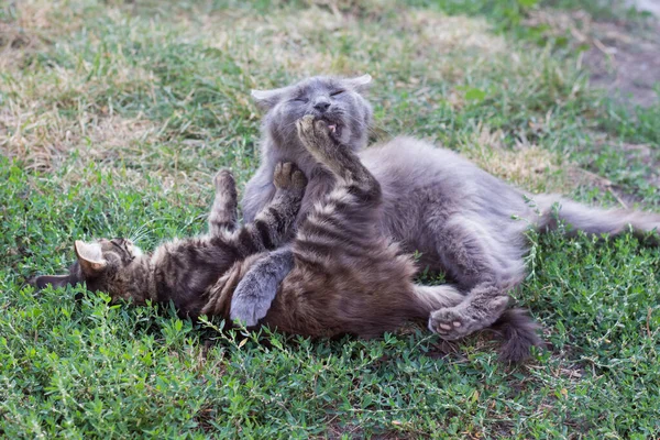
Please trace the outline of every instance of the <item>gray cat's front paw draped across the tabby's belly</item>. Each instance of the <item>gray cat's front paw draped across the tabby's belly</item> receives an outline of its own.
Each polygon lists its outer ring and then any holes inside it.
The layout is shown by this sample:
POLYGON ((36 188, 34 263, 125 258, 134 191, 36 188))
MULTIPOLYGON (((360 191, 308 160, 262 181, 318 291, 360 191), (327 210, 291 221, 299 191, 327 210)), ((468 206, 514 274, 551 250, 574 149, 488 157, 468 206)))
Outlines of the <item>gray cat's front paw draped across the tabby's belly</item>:
POLYGON ((272 251, 254 263, 241 278, 231 299, 231 319, 246 327, 266 316, 282 280, 294 268, 290 248, 272 251))

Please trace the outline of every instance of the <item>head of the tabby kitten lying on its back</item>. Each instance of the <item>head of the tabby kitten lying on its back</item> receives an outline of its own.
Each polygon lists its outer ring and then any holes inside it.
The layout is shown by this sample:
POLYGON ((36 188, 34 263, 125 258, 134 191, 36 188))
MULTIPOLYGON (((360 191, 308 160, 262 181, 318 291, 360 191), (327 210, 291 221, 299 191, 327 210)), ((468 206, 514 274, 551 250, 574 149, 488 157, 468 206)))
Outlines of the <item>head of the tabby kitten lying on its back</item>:
POLYGON ((42 289, 86 283, 91 292, 105 292, 112 298, 144 304, 147 299, 147 258, 125 239, 100 239, 91 243, 76 240, 77 261, 67 275, 42 275, 32 284, 42 289))

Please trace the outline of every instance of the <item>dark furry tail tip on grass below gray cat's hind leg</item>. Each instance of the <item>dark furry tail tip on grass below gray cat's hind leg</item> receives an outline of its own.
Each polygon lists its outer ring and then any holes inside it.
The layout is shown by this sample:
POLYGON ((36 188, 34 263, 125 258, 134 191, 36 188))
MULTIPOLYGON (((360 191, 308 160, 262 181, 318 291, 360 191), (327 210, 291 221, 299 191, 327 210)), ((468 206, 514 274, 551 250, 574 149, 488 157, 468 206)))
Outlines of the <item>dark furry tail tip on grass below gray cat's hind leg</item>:
POLYGON ((504 363, 522 363, 531 358, 532 346, 546 345, 538 333, 540 326, 525 309, 506 310, 491 329, 502 340, 499 361, 504 363))

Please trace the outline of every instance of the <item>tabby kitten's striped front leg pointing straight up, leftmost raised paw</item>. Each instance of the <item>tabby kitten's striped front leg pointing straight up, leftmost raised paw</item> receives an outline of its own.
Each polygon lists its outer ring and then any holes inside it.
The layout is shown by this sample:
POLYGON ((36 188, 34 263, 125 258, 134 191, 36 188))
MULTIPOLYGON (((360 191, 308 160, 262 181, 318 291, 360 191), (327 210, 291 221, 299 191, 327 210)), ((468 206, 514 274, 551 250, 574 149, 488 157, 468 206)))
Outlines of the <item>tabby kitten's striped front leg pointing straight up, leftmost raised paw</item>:
POLYGON ((209 234, 219 237, 237 229, 237 184, 229 169, 221 169, 213 177, 216 198, 209 213, 209 234))

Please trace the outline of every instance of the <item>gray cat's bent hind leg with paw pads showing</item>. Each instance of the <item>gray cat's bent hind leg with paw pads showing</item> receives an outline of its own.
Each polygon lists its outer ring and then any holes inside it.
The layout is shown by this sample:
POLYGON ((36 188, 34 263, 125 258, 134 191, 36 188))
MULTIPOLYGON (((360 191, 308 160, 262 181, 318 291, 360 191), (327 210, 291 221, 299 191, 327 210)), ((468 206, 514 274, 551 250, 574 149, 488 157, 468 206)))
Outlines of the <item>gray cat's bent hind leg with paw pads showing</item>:
POLYGON ((431 314, 429 328, 448 340, 490 327, 505 311, 508 292, 524 278, 517 240, 502 240, 479 221, 454 217, 438 235, 439 254, 449 275, 466 290, 461 304, 431 314))

